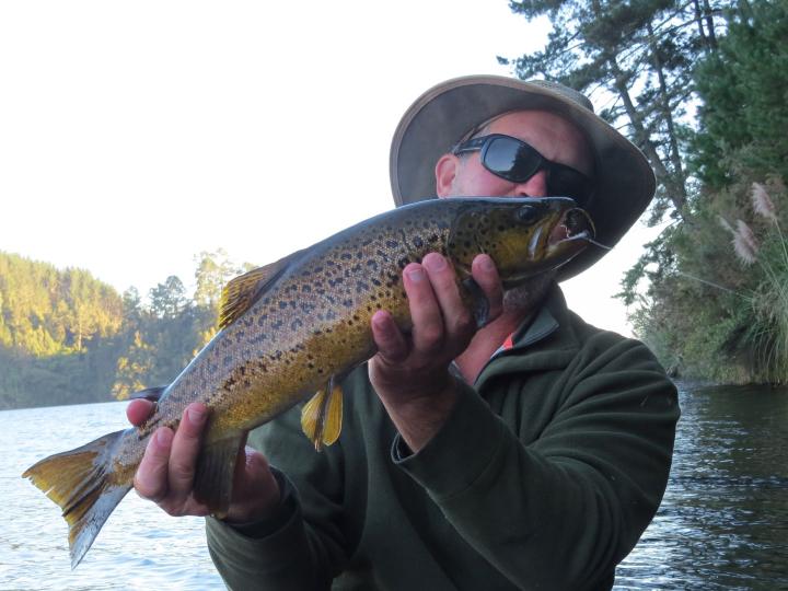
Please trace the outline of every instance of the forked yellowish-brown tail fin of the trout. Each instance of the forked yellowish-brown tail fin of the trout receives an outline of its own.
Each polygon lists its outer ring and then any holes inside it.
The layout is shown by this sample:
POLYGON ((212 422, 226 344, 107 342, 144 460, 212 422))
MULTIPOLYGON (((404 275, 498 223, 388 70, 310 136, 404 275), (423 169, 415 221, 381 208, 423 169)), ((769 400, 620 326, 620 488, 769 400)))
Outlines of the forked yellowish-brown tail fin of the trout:
POLYGON ((123 434, 108 433, 50 455, 22 474, 62 508, 69 524, 71 568, 80 564, 109 513, 131 488, 130 482, 112 482, 113 456, 123 434))

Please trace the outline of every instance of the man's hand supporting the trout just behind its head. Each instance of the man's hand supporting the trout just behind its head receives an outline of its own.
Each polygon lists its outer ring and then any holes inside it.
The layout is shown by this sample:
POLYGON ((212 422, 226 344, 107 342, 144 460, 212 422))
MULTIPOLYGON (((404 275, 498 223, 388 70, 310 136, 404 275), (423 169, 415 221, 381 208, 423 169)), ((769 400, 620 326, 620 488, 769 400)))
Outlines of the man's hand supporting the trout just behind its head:
MULTIPOLYGON (((502 309, 502 288, 493 259, 478 255, 474 280, 489 302, 489 320, 502 309)), ((456 398, 449 366, 471 343, 476 322, 463 303, 454 269, 437 253, 403 271, 413 331, 404 335, 389 312, 372 316, 378 346, 369 364, 370 381, 397 430, 414 451, 443 425, 456 398)))

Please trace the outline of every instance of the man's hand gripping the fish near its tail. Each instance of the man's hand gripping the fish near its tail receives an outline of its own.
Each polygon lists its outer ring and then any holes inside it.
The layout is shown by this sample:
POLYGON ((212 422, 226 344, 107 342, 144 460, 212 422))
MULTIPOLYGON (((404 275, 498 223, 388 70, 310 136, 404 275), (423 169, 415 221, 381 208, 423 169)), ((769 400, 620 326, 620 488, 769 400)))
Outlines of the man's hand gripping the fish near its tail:
MULTIPOLYGON (((141 425, 153 412, 149 401, 132 401, 126 416, 141 425)), ((137 493, 155 502, 171 515, 208 515, 211 511, 192 495, 200 439, 208 410, 193 403, 184 410, 177 431, 160 427, 150 438, 137 468, 137 493)), ((279 486, 262 453, 242 445, 235 463, 235 476, 227 522, 245 523, 269 517, 279 503, 279 486)))

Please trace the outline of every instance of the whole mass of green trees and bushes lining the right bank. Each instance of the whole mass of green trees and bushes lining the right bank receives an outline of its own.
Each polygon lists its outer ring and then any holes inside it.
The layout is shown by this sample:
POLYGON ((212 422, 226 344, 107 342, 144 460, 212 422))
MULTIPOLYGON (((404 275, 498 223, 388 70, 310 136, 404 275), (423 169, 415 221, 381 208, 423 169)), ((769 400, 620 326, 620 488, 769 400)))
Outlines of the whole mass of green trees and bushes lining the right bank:
POLYGON ((703 103, 688 142, 699 181, 692 221, 651 245, 621 296, 639 302, 636 331, 682 374, 785 383, 788 5, 742 4, 726 19, 727 35, 695 72, 703 103), (770 216, 753 209, 754 183, 765 184, 770 216))

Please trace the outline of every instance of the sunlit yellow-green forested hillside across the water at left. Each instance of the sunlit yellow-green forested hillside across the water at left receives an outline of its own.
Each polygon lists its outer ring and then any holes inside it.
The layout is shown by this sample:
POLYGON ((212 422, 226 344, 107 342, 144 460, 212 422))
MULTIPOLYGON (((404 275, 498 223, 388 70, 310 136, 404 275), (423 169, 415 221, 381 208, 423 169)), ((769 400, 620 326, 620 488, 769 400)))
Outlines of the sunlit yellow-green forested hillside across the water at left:
MULTIPOLYGON (((227 275, 223 256, 217 268, 227 275)), ((189 299, 174 276, 146 304, 135 288, 118 296, 84 270, 0 253, 0 408, 126 398, 166 384, 216 324, 216 302, 189 299)))

